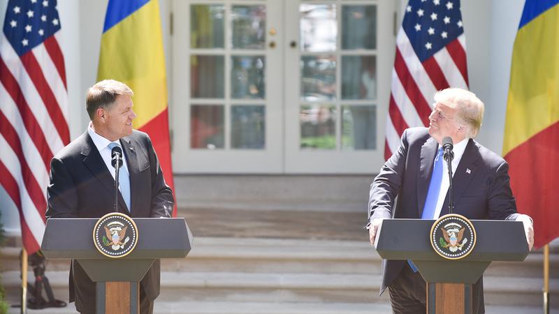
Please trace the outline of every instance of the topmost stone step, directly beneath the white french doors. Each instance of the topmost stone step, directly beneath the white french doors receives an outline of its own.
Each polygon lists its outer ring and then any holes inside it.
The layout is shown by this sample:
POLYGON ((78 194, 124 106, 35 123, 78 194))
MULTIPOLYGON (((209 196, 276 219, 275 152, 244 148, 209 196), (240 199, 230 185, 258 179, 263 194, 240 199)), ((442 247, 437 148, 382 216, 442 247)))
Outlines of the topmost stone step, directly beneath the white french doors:
POLYGON ((175 175, 175 194, 177 204, 184 209, 366 213, 369 186, 373 178, 372 174, 175 175))

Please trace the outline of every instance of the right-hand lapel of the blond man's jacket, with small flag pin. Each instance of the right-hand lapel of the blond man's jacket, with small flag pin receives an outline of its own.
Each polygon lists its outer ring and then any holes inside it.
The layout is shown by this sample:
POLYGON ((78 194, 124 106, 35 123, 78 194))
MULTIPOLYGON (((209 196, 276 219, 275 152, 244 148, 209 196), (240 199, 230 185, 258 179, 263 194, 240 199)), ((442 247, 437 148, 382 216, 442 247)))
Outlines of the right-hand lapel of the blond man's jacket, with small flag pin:
MULTIPOLYGON (((470 182, 474 178, 477 166, 475 165, 477 159, 479 158, 479 151, 477 150, 474 140, 470 139, 467 142, 464 154, 456 167, 456 172, 452 176, 452 186, 453 186, 453 203, 456 207, 456 203, 460 200, 460 197, 464 194, 470 182)), ((448 175, 448 174, 446 174, 448 175)), ((447 197, 444 199, 444 204, 442 206, 441 215, 449 214, 449 193, 447 192, 447 197)))

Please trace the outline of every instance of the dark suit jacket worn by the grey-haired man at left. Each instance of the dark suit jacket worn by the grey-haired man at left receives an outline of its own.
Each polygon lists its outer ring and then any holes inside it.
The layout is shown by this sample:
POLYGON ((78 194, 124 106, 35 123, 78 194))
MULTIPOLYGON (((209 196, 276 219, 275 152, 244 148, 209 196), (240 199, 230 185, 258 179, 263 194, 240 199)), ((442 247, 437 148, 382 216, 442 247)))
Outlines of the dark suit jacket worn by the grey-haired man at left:
MULTIPOLYGON (((165 217, 173 207, 173 192, 163 172, 150 137, 138 130, 120 139, 130 174, 131 213, 119 193, 119 212, 136 217, 165 217)), ((100 218, 113 211, 115 179, 87 131, 61 149, 50 162, 47 188, 47 218, 100 218)), ((140 282, 146 297, 159 295, 159 260, 140 282)), ((70 269, 70 301, 78 311, 92 311, 95 285, 73 261, 70 269)))

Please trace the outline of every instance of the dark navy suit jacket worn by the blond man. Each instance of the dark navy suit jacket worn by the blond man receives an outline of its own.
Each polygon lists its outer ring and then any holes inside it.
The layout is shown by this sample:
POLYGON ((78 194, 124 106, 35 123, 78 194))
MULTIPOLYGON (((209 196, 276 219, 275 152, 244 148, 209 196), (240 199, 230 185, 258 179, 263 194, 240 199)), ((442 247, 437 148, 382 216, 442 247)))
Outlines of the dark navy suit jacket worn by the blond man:
MULTIPOLYGON (((421 218, 437 149, 438 143, 427 128, 404 131, 400 147, 371 184, 370 218, 421 218)), ((515 220, 518 214, 508 170, 503 158, 468 140, 452 179, 454 214, 470 219, 515 220)), ((448 213, 447 193, 441 216, 448 213)), ((405 264, 405 260, 383 260, 381 293, 405 264)))

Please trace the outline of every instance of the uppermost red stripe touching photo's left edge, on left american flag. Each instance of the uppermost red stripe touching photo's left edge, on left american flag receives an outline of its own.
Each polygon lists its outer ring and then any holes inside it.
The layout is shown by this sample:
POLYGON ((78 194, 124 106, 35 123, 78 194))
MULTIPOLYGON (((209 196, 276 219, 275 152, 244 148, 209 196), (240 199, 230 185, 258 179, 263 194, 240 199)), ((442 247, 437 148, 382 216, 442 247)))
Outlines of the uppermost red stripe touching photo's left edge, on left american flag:
POLYGON ((17 105, 17 110, 19 110, 20 115, 22 117, 23 123, 29 133, 29 136, 33 140, 35 146, 37 147, 38 151, 41 153, 43 157, 43 163, 45 164, 45 169, 50 169, 50 158, 54 156, 50 147, 48 145, 47 140, 45 139, 45 135, 43 130, 41 130, 41 126, 39 126, 37 120, 35 119, 34 114, 29 109, 29 105, 25 100, 22 90, 20 89, 20 85, 17 84, 15 77, 13 77, 12 73, 6 67, 6 63, 4 63, 3 58, 0 57, 0 82, 6 88, 6 91, 13 99, 15 105, 17 105))

